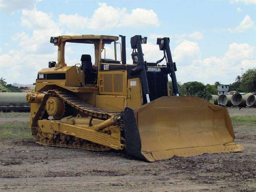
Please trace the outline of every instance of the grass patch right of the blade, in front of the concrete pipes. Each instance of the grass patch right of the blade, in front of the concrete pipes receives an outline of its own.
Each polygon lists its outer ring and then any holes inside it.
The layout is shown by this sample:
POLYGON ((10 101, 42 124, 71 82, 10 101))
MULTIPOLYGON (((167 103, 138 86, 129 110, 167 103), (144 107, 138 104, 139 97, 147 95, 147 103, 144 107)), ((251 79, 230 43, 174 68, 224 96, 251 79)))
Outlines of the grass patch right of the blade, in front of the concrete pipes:
POLYGON ((234 126, 256 127, 256 116, 233 116, 231 121, 234 126))

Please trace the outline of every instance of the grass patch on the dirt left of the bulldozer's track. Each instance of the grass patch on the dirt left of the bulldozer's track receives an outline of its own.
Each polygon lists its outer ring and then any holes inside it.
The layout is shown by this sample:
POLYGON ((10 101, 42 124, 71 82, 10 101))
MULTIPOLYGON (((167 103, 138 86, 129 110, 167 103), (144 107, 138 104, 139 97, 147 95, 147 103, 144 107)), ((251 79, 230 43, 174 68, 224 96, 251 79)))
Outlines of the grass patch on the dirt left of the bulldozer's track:
POLYGON ((32 139, 29 122, 0 124, 0 139, 32 139))

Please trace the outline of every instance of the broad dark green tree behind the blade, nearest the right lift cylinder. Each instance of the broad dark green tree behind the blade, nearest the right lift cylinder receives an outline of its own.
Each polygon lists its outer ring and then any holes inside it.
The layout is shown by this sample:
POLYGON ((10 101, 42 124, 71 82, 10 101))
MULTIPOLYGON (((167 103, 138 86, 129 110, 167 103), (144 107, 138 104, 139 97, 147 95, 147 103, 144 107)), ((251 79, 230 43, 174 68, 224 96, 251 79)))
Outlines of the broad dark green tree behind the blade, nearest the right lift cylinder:
POLYGON ((206 86, 201 82, 197 82, 197 81, 186 82, 183 84, 182 91, 184 91, 184 93, 182 93, 182 95, 186 95, 186 96, 193 95, 193 96, 204 98, 205 88, 206 86))

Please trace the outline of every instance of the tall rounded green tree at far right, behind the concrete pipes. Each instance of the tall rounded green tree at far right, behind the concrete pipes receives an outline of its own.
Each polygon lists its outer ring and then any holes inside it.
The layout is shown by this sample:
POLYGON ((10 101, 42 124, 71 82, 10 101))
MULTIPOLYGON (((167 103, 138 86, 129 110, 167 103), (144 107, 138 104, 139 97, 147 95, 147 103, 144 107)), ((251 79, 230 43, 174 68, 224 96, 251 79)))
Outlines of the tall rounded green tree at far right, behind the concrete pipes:
POLYGON ((256 91, 256 68, 248 69, 243 74, 240 89, 243 92, 256 91))

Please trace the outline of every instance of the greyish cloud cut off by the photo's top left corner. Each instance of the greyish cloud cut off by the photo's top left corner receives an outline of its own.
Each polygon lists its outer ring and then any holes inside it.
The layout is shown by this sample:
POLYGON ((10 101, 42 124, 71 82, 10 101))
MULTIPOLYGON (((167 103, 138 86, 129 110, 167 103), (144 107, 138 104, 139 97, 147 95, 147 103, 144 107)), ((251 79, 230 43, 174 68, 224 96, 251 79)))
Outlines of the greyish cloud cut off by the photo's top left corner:
POLYGON ((8 13, 14 13, 22 9, 30 10, 35 8, 35 2, 34 0, 1 0, 0 9, 8 13))

